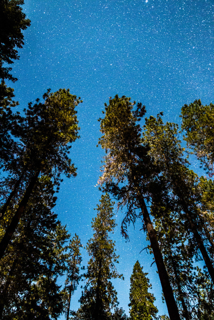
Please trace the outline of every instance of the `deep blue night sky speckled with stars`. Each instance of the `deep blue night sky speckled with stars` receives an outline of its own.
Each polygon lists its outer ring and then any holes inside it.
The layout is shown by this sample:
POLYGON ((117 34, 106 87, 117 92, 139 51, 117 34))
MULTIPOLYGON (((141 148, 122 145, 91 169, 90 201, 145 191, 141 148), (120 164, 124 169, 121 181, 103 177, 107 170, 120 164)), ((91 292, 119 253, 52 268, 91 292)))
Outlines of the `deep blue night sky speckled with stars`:
MULTIPOLYGON (((62 183, 55 212, 84 246, 101 197, 96 183, 104 151, 96 145, 104 102, 125 95, 142 102, 147 116, 163 111, 164 121, 178 123, 184 103, 214 102, 213 0, 25 0, 23 11, 31 26, 13 65, 19 80, 8 83, 19 109, 42 99, 47 88, 70 88, 83 100, 77 107, 81 138, 71 149, 78 175, 62 183)), ((117 269, 124 274, 124 281, 113 281, 120 307, 128 314, 130 276, 138 259, 149 273, 159 314, 167 314, 152 256, 141 252, 147 244, 140 221, 135 229, 130 226, 130 242, 125 242, 123 212, 115 210, 115 219, 117 269)), ((85 250, 82 256, 86 266, 85 250)), ((78 289, 71 308, 78 308, 80 295, 78 289)))

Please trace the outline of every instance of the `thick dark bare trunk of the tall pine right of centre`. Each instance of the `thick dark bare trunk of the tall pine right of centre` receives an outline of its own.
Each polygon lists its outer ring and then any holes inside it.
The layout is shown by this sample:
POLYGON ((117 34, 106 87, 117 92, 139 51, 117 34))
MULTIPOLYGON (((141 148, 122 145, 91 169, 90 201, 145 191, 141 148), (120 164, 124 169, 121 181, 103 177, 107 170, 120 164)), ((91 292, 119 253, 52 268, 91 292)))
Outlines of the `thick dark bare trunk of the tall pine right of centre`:
POLYGON ((156 232, 153 228, 152 222, 150 220, 150 215, 147 210, 146 204, 144 199, 141 197, 139 199, 139 204, 141 207, 142 215, 143 215, 143 221, 146 226, 146 230, 150 239, 151 248, 154 254, 155 262, 158 269, 158 275, 160 278, 160 283, 162 286, 164 298, 167 304, 167 309, 169 313, 170 320, 180 320, 178 308, 175 302, 175 297, 172 291, 172 287, 169 282, 169 277, 167 274, 167 270, 164 264, 164 260, 160 251, 160 247, 158 244, 156 232))

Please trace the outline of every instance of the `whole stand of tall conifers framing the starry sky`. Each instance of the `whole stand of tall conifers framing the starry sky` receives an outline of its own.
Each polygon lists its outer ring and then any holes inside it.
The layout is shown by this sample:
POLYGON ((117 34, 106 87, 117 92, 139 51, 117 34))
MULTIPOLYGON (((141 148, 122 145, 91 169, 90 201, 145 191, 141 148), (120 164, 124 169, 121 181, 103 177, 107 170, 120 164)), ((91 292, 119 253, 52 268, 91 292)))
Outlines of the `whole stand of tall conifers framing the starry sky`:
POLYGON ((109 98, 99 119, 98 145, 106 151, 98 180, 103 194, 91 222, 93 236, 82 244, 53 211, 63 178, 77 175, 70 148, 80 138, 81 97, 47 89, 42 101, 29 102, 20 113, 13 111, 18 102, 4 82, 17 80, 9 66, 19 59, 22 31, 30 26, 23 3, 0 4, 0 318, 168 319, 158 315, 152 281, 138 260, 129 316, 119 308, 113 279, 124 277, 113 233, 118 222, 127 240, 129 225, 139 220, 169 319, 214 319, 213 104, 184 104, 179 126, 164 123, 163 112, 146 117, 146 107, 130 97, 109 98), (191 154, 210 179, 193 171, 191 154), (110 197, 122 221, 116 221, 110 197), (73 310, 81 280, 80 306, 73 310))

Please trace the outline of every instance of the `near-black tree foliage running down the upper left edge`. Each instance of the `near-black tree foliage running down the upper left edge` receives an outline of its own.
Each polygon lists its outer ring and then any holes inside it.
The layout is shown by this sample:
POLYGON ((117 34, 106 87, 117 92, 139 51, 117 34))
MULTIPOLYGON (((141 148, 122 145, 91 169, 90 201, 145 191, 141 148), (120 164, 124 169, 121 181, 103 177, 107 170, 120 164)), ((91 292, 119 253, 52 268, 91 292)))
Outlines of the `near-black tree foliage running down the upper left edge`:
MULTIPOLYGON (((17 48, 22 48, 24 36, 22 30, 30 26, 30 20, 25 19, 26 15, 22 12, 21 5, 23 0, 2 0, 0 2, 0 168, 7 172, 6 178, 1 179, 1 204, 4 206, 1 211, 5 211, 15 194, 19 185, 22 168, 19 162, 16 163, 19 153, 20 121, 22 117, 19 112, 12 113, 11 108, 17 106, 18 101, 12 100, 14 97, 13 89, 7 87, 4 80, 13 82, 17 78, 10 74, 13 60, 18 60, 17 48), (14 139, 15 138, 15 139, 14 139), (13 174, 11 174, 11 171, 13 174), (20 172, 21 171, 21 172, 20 172), (8 193, 10 196, 8 197, 8 193)), ((2 214, 0 214, 0 219, 2 214)))

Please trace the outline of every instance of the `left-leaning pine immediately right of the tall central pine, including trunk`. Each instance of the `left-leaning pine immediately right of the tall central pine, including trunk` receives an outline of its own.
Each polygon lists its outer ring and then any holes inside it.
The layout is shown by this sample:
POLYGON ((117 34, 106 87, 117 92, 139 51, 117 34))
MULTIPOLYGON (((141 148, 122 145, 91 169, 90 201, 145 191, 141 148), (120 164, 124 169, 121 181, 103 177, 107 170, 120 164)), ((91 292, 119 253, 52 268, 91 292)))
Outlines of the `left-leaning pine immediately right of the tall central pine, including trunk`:
POLYGON ((162 176, 162 181, 166 185, 167 197, 164 201, 165 203, 174 202, 179 208, 180 220, 185 221, 186 228, 192 233, 197 249, 200 250, 210 277, 214 281, 214 267, 201 236, 200 223, 197 221, 196 204, 200 199, 196 198, 195 190, 197 190, 199 179, 193 171, 188 169, 188 162, 183 155, 184 148, 181 147, 181 141, 177 137, 178 125, 172 123, 164 125, 160 115, 157 119, 150 116, 145 120, 144 141, 150 146, 149 153, 159 166, 159 176, 162 176))

